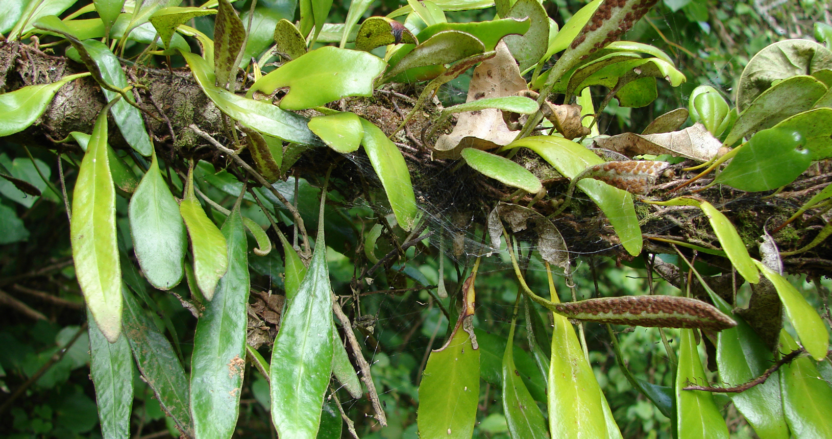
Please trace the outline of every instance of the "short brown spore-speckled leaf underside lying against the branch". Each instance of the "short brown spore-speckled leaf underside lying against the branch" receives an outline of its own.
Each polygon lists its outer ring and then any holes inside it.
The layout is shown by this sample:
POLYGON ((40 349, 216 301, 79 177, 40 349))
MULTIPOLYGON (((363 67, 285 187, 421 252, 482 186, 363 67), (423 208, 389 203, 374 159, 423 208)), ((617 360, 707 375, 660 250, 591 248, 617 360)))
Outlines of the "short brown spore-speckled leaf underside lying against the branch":
POLYGON ((666 161, 608 161, 590 166, 582 174, 585 174, 583 178, 594 178, 631 194, 645 195, 656 183, 656 178, 670 165, 666 161))

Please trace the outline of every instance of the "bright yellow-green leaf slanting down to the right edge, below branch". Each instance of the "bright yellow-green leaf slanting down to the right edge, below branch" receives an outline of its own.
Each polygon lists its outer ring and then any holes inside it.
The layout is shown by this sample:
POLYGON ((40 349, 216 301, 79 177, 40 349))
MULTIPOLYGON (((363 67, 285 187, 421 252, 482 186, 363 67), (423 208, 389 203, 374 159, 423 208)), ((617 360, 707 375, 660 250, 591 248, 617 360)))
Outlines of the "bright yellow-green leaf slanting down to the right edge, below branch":
POLYGON ((816 361, 825 358, 830 336, 818 312, 809 302, 806 302, 803 295, 787 279, 759 261, 754 262, 765 278, 775 284, 777 294, 780 295, 780 302, 785 308, 785 316, 795 328, 800 344, 816 361))

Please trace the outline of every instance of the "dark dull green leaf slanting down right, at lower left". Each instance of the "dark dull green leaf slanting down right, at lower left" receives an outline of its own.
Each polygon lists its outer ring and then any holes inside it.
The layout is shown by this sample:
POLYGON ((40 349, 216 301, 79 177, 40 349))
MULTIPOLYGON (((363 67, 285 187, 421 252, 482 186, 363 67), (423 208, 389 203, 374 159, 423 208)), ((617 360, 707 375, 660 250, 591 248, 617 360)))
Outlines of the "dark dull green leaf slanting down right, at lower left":
MULTIPOLYGON (((131 293, 123 288, 124 334, 136 358, 142 377, 153 389, 162 410, 176 425, 193 437, 194 427, 188 410, 188 378, 176 358, 171 342, 156 329, 144 309, 131 293)), ((225 373, 228 373, 227 370, 225 373)), ((121 397, 121 396, 120 396, 121 397)))

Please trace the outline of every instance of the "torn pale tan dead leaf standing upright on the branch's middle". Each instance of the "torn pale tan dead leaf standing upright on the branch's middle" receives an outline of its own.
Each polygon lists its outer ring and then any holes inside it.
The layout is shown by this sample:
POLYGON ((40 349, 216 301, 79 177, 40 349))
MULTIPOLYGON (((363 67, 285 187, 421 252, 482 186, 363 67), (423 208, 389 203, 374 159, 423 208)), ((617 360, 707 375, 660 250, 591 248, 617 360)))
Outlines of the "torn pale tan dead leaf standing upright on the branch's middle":
MULTIPOLYGON (((467 102, 486 97, 514 96, 525 89, 526 81, 520 76, 514 58, 505 43, 500 42, 497 45, 497 55, 474 69, 468 86, 467 102)), ((439 136, 433 150, 435 154, 442 154, 443 158, 457 159, 459 143, 465 137, 476 137, 497 146, 506 146, 514 141, 517 133, 508 129, 499 110, 488 108, 465 112, 459 115, 457 126, 451 134, 439 136), (457 152, 453 154, 450 151, 457 152)))

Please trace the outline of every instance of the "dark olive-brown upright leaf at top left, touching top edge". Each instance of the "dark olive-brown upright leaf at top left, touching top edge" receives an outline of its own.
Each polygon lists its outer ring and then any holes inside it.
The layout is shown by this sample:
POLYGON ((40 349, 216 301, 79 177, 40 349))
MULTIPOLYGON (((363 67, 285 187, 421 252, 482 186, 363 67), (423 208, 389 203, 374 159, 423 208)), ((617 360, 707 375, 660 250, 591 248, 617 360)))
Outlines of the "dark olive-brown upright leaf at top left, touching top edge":
POLYGON ((231 91, 234 91, 237 67, 245 48, 243 42, 243 21, 237 17, 237 12, 228 0, 219 0, 214 27, 214 76, 216 85, 220 88, 227 88, 231 82, 231 91))

